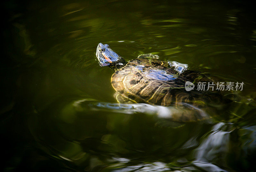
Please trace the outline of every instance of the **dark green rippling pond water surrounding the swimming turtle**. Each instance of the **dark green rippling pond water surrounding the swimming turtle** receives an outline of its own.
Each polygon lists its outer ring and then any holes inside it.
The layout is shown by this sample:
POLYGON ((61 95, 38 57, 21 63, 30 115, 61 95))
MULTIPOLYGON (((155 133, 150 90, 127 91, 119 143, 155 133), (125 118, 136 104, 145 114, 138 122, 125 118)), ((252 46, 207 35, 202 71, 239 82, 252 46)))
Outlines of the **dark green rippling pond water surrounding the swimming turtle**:
POLYGON ((8 1, 4 9, 4 171, 255 170, 249 2, 8 1), (113 71, 96 61, 100 42, 126 60, 157 54, 244 88, 210 121, 177 124, 155 106, 120 107, 113 71))

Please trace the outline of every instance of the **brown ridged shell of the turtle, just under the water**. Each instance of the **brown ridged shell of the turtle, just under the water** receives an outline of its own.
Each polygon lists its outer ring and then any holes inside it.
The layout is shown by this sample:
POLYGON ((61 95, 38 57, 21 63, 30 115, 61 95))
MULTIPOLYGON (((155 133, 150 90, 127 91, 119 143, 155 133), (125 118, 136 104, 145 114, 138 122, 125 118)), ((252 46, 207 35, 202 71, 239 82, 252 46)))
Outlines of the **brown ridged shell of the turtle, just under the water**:
MULTIPOLYGON (((204 105, 212 101, 206 91, 185 90, 185 82, 214 82, 208 76, 187 70, 179 74, 165 61, 156 59, 134 59, 111 77, 119 102, 148 103, 169 106, 177 103, 204 105), (207 94, 207 96, 205 96, 207 94)), ((211 92, 211 94, 214 92, 211 92)), ((220 95, 214 93, 215 98, 220 95)))

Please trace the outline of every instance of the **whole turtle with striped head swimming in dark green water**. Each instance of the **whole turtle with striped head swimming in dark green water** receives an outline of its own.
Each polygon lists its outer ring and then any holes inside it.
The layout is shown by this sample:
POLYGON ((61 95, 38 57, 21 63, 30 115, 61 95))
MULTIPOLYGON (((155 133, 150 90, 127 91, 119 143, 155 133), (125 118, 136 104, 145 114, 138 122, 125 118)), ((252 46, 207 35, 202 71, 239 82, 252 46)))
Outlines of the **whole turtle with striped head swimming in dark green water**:
POLYGON ((175 108, 171 119, 185 122, 208 118, 202 110, 223 102, 219 90, 185 89, 186 82, 216 83, 216 78, 190 70, 186 64, 161 61, 154 54, 142 54, 127 62, 108 44, 102 43, 98 44, 96 57, 101 67, 108 66, 115 71, 111 84, 119 103, 171 106, 175 108))

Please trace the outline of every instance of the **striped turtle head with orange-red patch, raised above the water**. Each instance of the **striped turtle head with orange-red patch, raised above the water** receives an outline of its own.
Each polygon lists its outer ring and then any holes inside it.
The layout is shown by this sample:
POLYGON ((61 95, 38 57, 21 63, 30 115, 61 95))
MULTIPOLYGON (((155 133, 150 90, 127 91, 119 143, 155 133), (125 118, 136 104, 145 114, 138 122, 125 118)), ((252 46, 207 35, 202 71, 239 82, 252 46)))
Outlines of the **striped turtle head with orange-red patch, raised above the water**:
POLYGON ((108 46, 108 44, 99 43, 96 50, 96 56, 100 66, 108 66, 113 69, 119 69, 126 64, 123 57, 114 52, 108 46))

